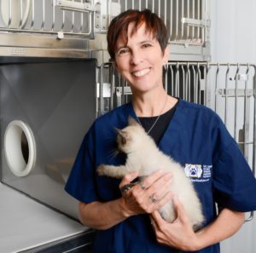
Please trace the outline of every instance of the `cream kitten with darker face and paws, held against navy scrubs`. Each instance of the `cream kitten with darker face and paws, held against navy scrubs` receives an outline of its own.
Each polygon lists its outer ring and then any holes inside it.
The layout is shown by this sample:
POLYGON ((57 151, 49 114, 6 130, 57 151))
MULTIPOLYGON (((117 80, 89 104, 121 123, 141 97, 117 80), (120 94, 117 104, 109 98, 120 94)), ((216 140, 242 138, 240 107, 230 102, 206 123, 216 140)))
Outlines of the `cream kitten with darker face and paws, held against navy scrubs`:
MULTIPOLYGON (((201 203, 195 189, 186 177, 183 168, 172 158, 164 154, 155 145, 154 140, 147 135, 145 130, 133 118, 129 118, 129 125, 118 131, 118 148, 127 154, 125 165, 113 166, 101 164, 97 168, 98 175, 108 175, 122 178, 124 175, 137 170, 138 176, 152 174, 155 170, 172 172, 172 183, 170 191, 174 193, 189 216, 189 221, 194 229, 200 227, 204 221, 201 211, 201 203)), ((173 210, 172 201, 160 209, 160 215, 166 221, 174 221, 177 217, 173 210)))

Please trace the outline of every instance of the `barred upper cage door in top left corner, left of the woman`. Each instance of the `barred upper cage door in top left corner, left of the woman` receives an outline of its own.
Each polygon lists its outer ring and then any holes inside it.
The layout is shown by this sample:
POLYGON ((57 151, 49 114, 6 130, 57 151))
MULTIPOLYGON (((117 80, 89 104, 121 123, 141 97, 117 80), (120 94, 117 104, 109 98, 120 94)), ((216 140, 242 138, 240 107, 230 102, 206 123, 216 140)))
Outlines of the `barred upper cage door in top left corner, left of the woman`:
POLYGON ((94 8, 85 1, 1 1, 2 32, 88 37, 94 8))

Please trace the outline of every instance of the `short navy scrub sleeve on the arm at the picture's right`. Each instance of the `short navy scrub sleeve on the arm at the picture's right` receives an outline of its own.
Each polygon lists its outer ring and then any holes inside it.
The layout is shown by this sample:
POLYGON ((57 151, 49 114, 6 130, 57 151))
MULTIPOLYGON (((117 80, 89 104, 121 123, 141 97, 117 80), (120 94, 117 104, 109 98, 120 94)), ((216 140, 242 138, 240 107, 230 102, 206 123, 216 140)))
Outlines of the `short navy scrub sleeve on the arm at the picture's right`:
POLYGON ((236 141, 221 149, 213 168, 213 197, 219 206, 256 210, 256 180, 236 141))

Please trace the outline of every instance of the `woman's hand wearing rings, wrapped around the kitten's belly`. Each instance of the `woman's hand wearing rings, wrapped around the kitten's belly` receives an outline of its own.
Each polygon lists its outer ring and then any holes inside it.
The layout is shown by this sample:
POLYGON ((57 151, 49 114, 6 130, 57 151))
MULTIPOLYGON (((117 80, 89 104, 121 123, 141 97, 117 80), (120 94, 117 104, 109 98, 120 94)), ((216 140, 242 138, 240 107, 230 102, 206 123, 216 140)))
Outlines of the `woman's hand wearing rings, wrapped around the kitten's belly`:
MULTIPOLYGON (((120 182, 119 188, 124 189, 126 185, 137 178, 137 172, 125 175, 120 182)), ((138 214, 151 214, 159 210, 172 198, 172 193, 168 192, 172 182, 172 174, 164 174, 157 170, 152 175, 148 175, 143 181, 131 187, 131 189, 122 191, 122 201, 125 216, 135 216, 138 214)))

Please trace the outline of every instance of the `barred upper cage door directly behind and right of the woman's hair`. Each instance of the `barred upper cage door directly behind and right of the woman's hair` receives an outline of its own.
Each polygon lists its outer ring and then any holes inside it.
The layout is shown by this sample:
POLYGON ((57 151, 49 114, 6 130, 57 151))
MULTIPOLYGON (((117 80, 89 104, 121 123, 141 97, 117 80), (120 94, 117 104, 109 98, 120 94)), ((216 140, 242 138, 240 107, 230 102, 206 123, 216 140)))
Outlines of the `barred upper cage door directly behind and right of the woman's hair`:
POLYGON ((201 45, 207 41, 206 0, 121 0, 121 10, 151 9, 164 20, 170 41, 201 45))

